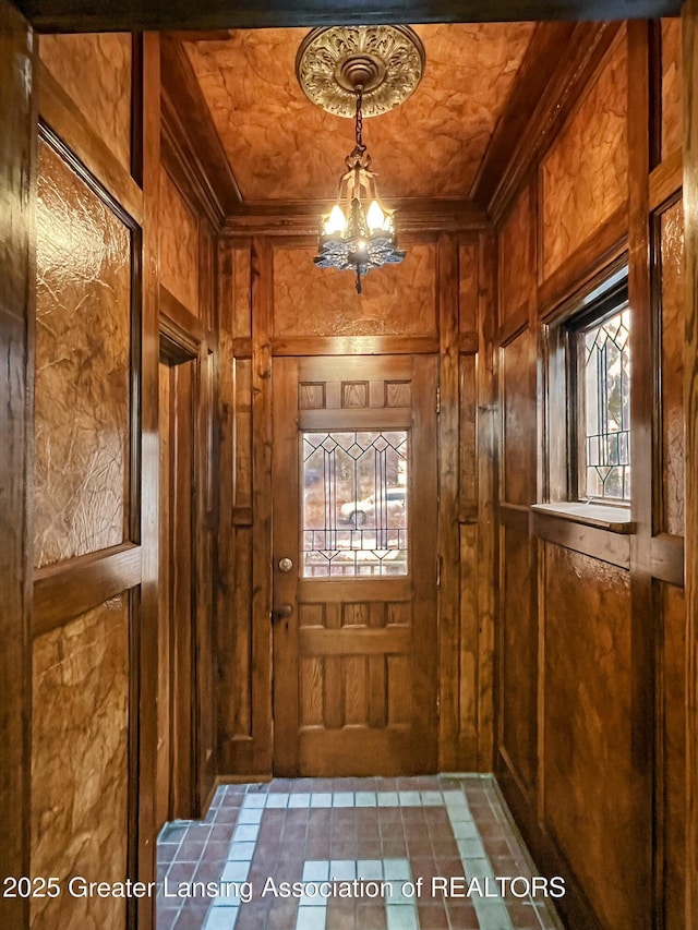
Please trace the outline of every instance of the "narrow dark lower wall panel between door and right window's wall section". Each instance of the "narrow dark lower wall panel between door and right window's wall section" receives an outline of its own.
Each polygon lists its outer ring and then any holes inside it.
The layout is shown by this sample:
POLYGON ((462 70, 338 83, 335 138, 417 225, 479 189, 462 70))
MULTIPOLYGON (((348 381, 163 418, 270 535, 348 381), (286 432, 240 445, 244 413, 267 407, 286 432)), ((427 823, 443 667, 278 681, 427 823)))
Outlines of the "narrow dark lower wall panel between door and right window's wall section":
POLYGON ((528 526, 502 527, 500 744, 525 789, 535 780, 537 616, 528 526))

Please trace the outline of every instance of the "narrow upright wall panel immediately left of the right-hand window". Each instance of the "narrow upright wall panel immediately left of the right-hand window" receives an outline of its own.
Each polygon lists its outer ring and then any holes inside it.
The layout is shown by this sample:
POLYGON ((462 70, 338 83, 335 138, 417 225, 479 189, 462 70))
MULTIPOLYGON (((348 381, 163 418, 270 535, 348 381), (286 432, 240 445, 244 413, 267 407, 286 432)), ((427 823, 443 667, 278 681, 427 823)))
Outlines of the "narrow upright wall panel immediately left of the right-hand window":
POLYGON ((529 361, 530 340, 526 329, 502 350, 502 499, 507 504, 531 504, 535 496, 535 384, 529 361))

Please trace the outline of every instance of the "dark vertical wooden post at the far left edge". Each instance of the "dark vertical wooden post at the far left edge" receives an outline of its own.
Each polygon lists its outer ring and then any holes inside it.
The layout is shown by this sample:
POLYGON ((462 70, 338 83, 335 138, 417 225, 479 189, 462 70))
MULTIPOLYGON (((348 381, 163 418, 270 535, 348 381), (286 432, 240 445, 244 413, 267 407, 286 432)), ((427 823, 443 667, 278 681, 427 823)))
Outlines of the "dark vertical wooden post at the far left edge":
MULTIPOLYGON (((34 36, 0 0, 0 874, 29 874, 32 434, 36 101, 34 36), (28 81, 27 81, 28 78, 28 81)), ((0 898, 0 922, 28 925, 28 901, 0 898)))

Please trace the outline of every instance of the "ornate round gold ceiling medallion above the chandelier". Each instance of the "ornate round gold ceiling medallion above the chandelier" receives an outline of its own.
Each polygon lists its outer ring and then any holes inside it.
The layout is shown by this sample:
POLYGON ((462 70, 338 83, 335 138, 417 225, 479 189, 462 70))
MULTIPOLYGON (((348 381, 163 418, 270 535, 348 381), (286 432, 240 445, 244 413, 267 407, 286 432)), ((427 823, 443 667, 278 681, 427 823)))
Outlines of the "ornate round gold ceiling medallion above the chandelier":
POLYGON ((424 73, 424 46, 409 26, 329 26, 305 36, 296 75, 313 104, 337 117, 353 117, 363 89, 363 116, 399 107, 424 73))

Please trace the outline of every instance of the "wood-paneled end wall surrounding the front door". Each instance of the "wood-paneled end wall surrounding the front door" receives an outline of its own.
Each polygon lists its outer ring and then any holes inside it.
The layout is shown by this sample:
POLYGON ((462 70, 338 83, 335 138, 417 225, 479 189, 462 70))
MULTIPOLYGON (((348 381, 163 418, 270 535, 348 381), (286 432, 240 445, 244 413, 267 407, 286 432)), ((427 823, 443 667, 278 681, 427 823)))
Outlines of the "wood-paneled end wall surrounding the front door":
POLYGON ((440 764, 491 768, 493 243, 416 233, 405 247, 405 262, 370 275, 359 297, 349 275, 314 267, 312 237, 220 243, 219 338, 221 359, 232 358, 219 384, 222 777, 270 774, 270 391, 274 359, 306 354, 440 355, 440 764))

